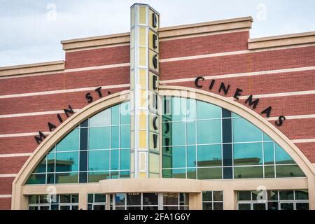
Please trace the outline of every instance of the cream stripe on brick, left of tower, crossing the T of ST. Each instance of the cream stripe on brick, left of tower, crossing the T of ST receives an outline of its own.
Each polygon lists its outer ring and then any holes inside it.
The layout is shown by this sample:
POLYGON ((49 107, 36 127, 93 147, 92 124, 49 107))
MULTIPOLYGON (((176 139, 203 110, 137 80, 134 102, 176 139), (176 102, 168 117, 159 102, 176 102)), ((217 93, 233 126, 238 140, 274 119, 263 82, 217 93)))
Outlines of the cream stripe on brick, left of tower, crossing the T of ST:
MULTIPOLYGON (((130 84, 104 85, 102 86, 102 89, 113 89, 113 88, 120 88, 120 87, 130 87, 130 84)), ((48 94, 59 94, 59 93, 66 93, 66 92, 83 92, 83 91, 95 90, 96 88, 97 87, 94 86, 94 87, 85 87, 85 88, 67 89, 67 90, 52 90, 52 91, 43 91, 43 92, 9 94, 9 95, 0 96, 0 99, 7 99, 7 98, 13 98, 13 97, 40 96, 40 95, 48 95, 48 94)))

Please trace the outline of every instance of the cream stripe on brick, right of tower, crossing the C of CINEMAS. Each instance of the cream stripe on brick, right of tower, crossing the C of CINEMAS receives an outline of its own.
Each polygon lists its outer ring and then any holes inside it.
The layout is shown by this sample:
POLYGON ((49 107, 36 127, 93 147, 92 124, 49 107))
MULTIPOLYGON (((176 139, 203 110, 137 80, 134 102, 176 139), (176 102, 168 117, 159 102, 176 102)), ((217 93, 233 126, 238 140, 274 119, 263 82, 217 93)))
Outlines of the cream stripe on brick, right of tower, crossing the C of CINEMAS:
MULTIPOLYGON (((309 71, 315 70, 315 66, 308 67, 300 67, 293 69, 276 69, 276 70, 268 70, 268 71, 254 71, 254 72, 244 72, 244 73, 232 73, 232 74, 223 74, 217 76, 202 76, 205 80, 216 79, 216 78, 237 78, 244 76, 260 76, 266 74, 274 74, 274 73, 286 73, 286 72, 294 72, 294 71, 309 71)), ((179 78, 179 79, 170 79, 170 80, 160 80, 160 84, 168 84, 168 83, 183 83, 195 81, 196 78, 179 78)))

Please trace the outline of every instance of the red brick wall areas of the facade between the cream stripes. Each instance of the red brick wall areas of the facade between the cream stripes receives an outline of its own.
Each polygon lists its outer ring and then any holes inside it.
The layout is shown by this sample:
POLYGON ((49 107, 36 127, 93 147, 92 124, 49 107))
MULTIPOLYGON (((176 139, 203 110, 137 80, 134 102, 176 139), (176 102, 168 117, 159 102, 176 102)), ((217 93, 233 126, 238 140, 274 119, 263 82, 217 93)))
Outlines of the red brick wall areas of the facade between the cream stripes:
MULTIPOLYGON (((181 38, 160 42, 160 59, 186 57, 247 50, 248 31, 229 34, 216 34, 193 38, 181 38)), ((225 55, 203 59, 189 59, 160 63, 160 80, 174 80, 168 85, 195 87, 193 79, 197 76, 218 76, 232 73, 248 73, 273 69, 291 69, 303 66, 315 66, 315 47, 267 50, 239 55, 225 55), (175 79, 192 78, 180 82, 175 79)), ((94 50, 80 50, 66 53, 66 69, 80 69, 91 66, 121 64, 130 62, 130 45, 94 50)), ((242 95, 269 94, 279 92, 297 92, 315 90, 314 71, 294 71, 269 73, 259 76, 237 78, 215 78, 213 90, 209 90, 210 80, 204 80, 202 90, 218 93, 221 82, 230 84, 226 97, 232 97, 237 87, 242 95)), ((121 66, 109 69, 87 71, 66 71, 43 76, 25 76, 20 78, 0 79, 0 96, 53 90, 69 90, 104 85, 130 83, 130 67, 121 66)), ((129 87, 116 87, 102 90, 120 92, 129 87)), ((25 97, 0 98, 0 116, 12 113, 30 113, 39 111, 59 111, 71 104, 73 109, 82 109, 88 103, 85 94, 91 92, 94 100, 99 99, 97 92, 79 91, 58 94, 43 94, 25 97)), ((244 104, 244 99, 239 100, 244 104)), ((272 106, 271 116, 295 116, 315 114, 314 94, 290 97, 260 98, 257 109, 260 113, 267 106, 272 106)), ((66 118, 64 114, 63 118, 66 118)), ((41 116, 22 116, 0 118, 0 134, 15 134, 48 131, 47 122, 59 125, 56 114, 41 116)), ((270 121, 274 124, 274 121, 270 121)), ((286 120, 278 127, 289 139, 314 139, 315 118, 286 120)), ((311 162, 315 162, 315 143, 296 144, 311 162)), ((0 154, 31 153, 37 147, 34 136, 0 138, 0 154)), ((0 174, 16 174, 27 160, 27 156, 0 158, 0 174)), ((10 195, 13 177, 0 178, 0 195, 10 195)), ((10 198, 0 198, 0 209, 10 209, 10 198)))

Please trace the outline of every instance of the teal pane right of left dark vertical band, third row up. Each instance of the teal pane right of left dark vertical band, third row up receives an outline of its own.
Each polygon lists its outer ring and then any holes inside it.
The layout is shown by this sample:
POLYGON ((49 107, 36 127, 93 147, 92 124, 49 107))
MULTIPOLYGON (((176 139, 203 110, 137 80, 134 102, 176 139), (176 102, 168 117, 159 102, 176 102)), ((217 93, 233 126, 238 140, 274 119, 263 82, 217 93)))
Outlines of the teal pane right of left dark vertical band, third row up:
POLYGON ((89 149, 108 149, 110 127, 92 127, 89 133, 89 149))

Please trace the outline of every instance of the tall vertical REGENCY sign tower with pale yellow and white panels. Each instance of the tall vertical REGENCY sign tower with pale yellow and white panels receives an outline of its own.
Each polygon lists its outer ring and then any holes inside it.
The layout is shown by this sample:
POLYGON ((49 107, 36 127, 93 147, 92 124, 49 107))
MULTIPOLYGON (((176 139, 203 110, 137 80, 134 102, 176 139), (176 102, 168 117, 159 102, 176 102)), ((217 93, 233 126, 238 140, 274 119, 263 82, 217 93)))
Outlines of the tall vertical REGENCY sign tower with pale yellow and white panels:
POLYGON ((146 4, 130 8, 130 176, 160 176, 159 40, 160 15, 146 4))

